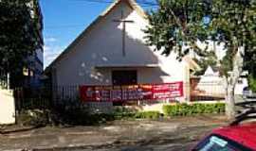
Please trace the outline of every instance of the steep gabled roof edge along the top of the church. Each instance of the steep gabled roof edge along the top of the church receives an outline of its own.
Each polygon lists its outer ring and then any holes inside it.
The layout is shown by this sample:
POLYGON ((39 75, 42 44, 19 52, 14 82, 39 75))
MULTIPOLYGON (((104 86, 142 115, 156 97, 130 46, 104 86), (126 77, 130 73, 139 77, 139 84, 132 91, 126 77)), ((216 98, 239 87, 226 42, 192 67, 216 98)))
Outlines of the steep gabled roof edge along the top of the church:
POLYGON ((73 47, 82 40, 83 37, 86 36, 86 34, 93 28, 93 26, 97 25, 98 23, 101 22, 102 19, 105 18, 105 16, 107 16, 113 9, 115 9, 116 7, 119 6, 119 4, 121 2, 125 2, 129 5, 129 7, 133 8, 134 10, 137 11, 137 13, 143 17, 143 18, 147 18, 147 15, 145 13, 145 11, 143 10, 143 8, 139 7, 139 5, 137 4, 137 2, 135 0, 116 0, 115 2, 113 2, 108 8, 105 9, 105 11, 103 11, 101 13, 101 15, 94 21, 91 23, 91 25, 89 25, 88 27, 86 27, 82 33, 78 36, 78 38, 75 39, 75 41, 71 42, 71 44, 69 44, 67 46, 67 48, 65 48, 65 50, 61 53, 61 55, 58 56, 57 59, 54 59, 47 67, 45 70, 45 74, 48 73, 50 71, 50 68, 52 66, 54 66, 58 61, 60 61, 61 59, 64 58, 64 56, 66 54, 68 54, 69 52, 71 52, 73 49, 73 47))

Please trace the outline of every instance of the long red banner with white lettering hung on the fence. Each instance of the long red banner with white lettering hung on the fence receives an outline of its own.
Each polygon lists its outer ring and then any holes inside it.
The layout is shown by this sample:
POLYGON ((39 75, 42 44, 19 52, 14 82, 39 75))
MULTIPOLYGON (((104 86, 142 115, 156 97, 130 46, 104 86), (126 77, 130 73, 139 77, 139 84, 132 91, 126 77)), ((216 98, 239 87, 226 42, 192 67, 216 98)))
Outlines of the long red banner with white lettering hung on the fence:
POLYGON ((82 101, 157 100, 183 96, 183 82, 132 86, 81 86, 82 101))

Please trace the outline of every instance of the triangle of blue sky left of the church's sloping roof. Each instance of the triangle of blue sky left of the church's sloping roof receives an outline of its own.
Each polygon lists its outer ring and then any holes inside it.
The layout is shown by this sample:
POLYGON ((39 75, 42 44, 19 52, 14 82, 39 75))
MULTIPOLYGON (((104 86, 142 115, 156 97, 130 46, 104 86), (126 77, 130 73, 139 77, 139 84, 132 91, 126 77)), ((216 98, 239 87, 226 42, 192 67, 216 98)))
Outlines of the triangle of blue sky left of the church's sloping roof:
POLYGON ((85 0, 40 0, 40 4, 44 16, 45 67, 110 5, 85 0))

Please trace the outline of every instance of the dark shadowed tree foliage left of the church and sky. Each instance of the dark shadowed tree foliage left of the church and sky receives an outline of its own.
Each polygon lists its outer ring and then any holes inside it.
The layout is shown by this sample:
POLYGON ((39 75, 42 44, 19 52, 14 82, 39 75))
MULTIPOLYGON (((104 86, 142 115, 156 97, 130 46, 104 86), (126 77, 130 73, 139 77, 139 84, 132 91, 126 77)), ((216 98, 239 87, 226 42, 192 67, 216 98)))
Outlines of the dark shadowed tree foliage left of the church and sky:
POLYGON ((0 1, 0 73, 15 83, 22 78, 27 57, 41 46, 42 39, 28 4, 31 0, 0 1))

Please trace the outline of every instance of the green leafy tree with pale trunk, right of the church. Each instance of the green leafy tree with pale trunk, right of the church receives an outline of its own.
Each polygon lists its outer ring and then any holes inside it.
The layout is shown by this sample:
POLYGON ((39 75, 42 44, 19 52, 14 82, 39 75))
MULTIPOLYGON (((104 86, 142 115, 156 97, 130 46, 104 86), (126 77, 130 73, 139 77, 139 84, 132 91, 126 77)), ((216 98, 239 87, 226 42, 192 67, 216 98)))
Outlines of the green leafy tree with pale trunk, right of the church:
MULTIPOLYGON (((178 59, 190 51, 206 57, 198 42, 223 44, 227 50, 221 63, 226 79, 226 112, 234 117, 234 88, 244 67, 245 55, 255 57, 255 0, 158 0, 159 8, 149 12, 145 30, 148 44, 178 59)), ((254 62, 253 62, 254 63, 254 62)), ((255 64, 255 63, 254 63, 255 64)))

